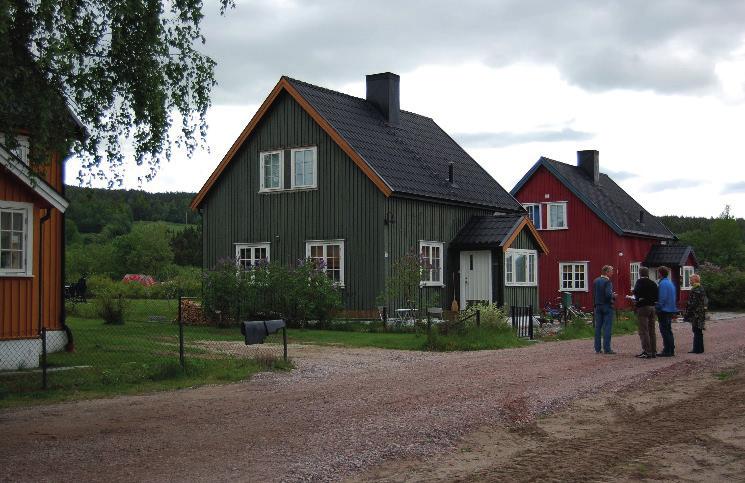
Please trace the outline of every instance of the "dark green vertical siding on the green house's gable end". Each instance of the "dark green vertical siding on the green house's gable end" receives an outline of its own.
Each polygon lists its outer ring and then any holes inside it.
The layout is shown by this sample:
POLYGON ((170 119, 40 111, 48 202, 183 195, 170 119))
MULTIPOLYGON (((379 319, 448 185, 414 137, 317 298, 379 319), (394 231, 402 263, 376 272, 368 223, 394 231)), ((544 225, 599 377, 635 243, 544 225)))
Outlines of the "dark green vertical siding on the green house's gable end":
POLYGON ((307 240, 343 239, 345 306, 369 310, 384 279, 384 200, 329 135, 282 93, 202 204, 204 267, 232 260, 234 243, 269 242, 273 261, 293 265, 305 258, 307 240), (259 153, 301 146, 318 148, 318 188, 259 193, 259 153))

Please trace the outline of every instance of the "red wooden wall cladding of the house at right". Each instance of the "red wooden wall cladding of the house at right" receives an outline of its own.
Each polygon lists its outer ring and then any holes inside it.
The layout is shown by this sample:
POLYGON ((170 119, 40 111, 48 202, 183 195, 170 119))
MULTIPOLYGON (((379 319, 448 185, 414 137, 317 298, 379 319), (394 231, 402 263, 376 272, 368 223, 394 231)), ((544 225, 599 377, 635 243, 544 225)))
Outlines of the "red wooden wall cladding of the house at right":
POLYGON ((587 288, 571 292, 574 303, 592 308, 592 281, 600 275, 603 265, 616 268, 612 277, 618 294, 617 306, 630 308, 624 298, 631 292, 631 263, 642 262, 652 245, 651 238, 619 236, 568 188, 541 166, 515 195, 521 203, 567 202, 567 229, 546 230, 546 207, 541 208, 541 237, 549 248, 539 266, 540 304, 556 302, 559 293, 559 263, 588 262, 587 288), (548 196, 548 197, 547 197, 548 196))

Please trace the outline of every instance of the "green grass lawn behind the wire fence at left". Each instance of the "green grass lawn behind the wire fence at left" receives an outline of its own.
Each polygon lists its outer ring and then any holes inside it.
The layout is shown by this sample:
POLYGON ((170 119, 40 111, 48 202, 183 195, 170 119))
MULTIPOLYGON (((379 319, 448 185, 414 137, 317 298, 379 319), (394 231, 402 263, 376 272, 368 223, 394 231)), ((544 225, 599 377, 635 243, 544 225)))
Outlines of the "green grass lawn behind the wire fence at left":
MULTIPOLYGON (((147 302, 149 307, 163 309, 162 313, 169 310, 167 304, 160 303, 165 301, 147 302)), ((178 325, 140 321, 147 320, 147 314, 139 310, 123 325, 68 317, 75 351, 49 355, 48 389, 41 389, 39 371, 0 374, 0 408, 233 382, 256 372, 291 367, 281 359, 257 361, 189 347, 190 341, 205 338, 240 340, 240 333, 238 329, 185 327, 182 369, 178 325)))

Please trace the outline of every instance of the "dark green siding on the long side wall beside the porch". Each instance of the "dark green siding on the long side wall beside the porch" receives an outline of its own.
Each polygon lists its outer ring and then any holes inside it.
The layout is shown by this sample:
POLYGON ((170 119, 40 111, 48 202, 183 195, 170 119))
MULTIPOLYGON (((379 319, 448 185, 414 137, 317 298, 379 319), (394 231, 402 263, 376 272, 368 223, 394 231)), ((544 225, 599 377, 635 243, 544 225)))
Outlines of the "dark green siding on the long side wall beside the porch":
MULTIPOLYGON (((450 241, 473 215, 488 215, 493 210, 456 206, 433 201, 392 196, 385 200, 385 213, 395 220, 385 225, 386 274, 392 272, 392 265, 408 253, 419 254, 420 241, 443 243, 443 283, 444 287, 422 287, 420 297, 439 297, 440 306, 449 308, 454 290, 457 295, 460 286, 459 251, 450 250, 450 241), (452 252, 452 253, 451 253, 452 252)), ((384 287, 381 279, 380 289, 384 287)), ((404 306, 403 300, 388 301, 389 309, 404 306)))

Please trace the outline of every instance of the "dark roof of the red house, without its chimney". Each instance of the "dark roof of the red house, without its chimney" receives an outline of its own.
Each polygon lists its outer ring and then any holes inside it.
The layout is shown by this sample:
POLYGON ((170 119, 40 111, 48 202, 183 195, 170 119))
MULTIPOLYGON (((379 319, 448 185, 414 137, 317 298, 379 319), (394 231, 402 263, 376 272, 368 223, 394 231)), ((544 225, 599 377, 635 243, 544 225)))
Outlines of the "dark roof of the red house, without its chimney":
POLYGON ((600 173, 600 180, 596 185, 582 168, 546 157, 541 157, 512 188, 512 195, 517 194, 541 166, 556 176, 617 234, 648 236, 664 240, 677 239, 657 217, 645 210, 607 174, 600 173), (644 213, 641 221, 639 220, 640 212, 644 213))

